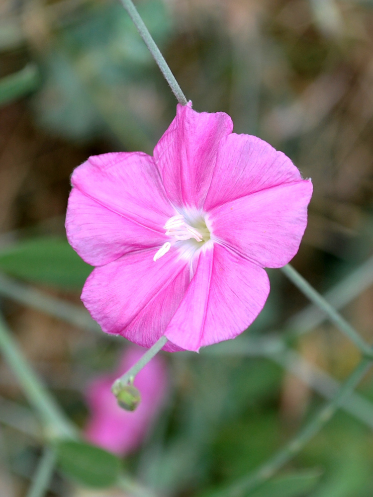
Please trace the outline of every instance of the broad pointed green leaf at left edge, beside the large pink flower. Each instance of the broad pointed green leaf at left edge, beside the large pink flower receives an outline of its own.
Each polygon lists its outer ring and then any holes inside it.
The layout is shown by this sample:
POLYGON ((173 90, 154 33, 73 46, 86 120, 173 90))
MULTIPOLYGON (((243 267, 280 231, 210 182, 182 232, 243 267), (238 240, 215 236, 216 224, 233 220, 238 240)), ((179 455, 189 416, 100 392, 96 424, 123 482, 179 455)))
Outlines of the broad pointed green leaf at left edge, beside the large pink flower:
POLYGON ((92 266, 65 238, 39 237, 0 250, 0 269, 30 283, 81 289, 92 266))

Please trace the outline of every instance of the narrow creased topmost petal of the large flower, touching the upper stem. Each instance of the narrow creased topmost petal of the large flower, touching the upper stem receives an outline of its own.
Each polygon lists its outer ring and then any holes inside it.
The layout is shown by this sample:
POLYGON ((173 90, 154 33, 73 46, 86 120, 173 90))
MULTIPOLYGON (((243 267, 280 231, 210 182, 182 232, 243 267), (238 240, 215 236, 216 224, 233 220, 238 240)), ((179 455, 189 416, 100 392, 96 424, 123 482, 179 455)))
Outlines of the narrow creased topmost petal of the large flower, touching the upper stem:
POLYGON ((195 112, 188 105, 177 115, 154 149, 167 195, 177 207, 200 208, 210 185, 220 140, 232 132, 224 112, 195 112))

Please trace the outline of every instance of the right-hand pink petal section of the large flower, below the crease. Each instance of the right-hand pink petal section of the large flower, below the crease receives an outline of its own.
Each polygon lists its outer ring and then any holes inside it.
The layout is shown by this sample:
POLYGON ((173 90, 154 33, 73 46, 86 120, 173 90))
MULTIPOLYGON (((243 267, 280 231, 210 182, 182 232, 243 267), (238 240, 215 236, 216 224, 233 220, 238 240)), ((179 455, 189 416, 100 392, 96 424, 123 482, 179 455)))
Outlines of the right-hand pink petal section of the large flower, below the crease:
POLYGON ((227 202, 209 212, 213 238, 262 267, 284 266, 298 251, 311 195, 302 180, 227 202))

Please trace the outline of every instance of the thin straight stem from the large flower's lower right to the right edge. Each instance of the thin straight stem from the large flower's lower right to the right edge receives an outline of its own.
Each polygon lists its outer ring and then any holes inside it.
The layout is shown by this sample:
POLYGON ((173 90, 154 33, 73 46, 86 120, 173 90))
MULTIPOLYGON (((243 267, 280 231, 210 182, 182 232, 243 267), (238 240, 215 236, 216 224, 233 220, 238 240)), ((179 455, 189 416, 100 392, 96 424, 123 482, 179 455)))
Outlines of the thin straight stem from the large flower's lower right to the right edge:
POLYGON ((311 302, 316 304, 352 342, 361 350, 366 357, 373 358, 372 347, 359 335, 359 333, 306 281, 290 264, 281 268, 282 272, 291 280, 295 286, 304 293, 311 302))

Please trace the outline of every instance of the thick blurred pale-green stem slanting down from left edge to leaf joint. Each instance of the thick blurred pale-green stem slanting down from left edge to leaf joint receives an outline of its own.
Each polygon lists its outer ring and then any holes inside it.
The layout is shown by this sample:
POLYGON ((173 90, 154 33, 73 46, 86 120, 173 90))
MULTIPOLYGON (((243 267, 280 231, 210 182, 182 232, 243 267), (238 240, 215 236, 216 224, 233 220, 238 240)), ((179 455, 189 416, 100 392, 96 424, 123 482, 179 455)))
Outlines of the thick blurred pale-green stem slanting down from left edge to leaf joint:
POLYGON ((76 429, 23 357, 2 316, 0 316, 0 350, 28 398, 40 414, 48 436, 76 436, 76 429))

